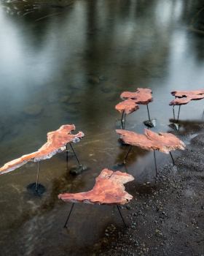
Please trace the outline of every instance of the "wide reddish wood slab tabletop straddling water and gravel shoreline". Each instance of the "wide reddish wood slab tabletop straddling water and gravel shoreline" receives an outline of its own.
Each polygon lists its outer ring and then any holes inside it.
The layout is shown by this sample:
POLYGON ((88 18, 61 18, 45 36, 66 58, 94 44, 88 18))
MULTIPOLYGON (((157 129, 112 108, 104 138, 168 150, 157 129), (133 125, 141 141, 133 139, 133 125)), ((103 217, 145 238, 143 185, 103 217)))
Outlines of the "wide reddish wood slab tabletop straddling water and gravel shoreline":
POLYGON ((117 129, 116 132, 126 144, 138 146, 149 151, 158 150, 168 154, 172 150, 184 150, 185 148, 183 141, 171 133, 160 132, 157 134, 149 129, 144 129, 144 135, 124 129, 117 129))

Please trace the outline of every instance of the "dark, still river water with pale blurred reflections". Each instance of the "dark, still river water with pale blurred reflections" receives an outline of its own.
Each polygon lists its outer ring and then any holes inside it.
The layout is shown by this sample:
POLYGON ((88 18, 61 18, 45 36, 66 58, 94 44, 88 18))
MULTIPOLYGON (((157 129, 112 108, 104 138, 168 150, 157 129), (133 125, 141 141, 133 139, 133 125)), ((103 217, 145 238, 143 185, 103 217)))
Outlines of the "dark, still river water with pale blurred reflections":
MULTIPOLYGON (((154 130, 165 132, 170 91, 204 87, 202 1, 71 2, 1 0, 0 164, 36 151, 48 131, 75 124, 86 135, 75 149, 90 169, 69 175, 64 153, 42 162, 43 197, 26 191, 36 165, 1 176, 0 255, 89 255, 106 225, 122 226, 117 212, 77 205, 70 229, 63 230, 70 204, 57 195, 90 189, 103 167, 121 162, 127 148, 114 132, 121 91, 151 88, 154 130)), ((181 108, 184 133, 194 132, 202 114, 202 101, 181 108)), ((127 117, 127 129, 143 132, 146 118, 141 106, 127 117)), ((170 160, 158 157, 158 165, 170 160)), ((70 155, 69 167, 74 164, 70 155)), ((127 168, 136 178, 131 192, 154 179, 151 153, 135 148, 127 168)))

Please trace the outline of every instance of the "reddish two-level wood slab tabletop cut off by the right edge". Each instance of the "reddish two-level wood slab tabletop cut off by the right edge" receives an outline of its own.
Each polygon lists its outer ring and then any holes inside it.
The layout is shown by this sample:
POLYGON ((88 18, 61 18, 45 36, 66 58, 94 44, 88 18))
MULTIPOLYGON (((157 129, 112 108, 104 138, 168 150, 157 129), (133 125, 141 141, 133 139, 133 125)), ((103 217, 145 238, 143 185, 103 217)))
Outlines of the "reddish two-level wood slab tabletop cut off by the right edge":
POLYGON ((169 105, 185 105, 191 100, 204 99, 204 89, 197 91, 172 91, 171 94, 176 97, 169 105))

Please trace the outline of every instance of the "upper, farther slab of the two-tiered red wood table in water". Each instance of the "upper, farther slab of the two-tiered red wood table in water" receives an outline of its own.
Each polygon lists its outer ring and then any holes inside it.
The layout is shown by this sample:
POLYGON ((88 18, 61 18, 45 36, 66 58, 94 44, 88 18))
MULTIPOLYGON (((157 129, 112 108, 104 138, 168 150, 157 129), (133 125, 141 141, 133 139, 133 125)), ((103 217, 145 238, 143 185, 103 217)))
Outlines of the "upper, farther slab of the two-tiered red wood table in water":
POLYGON ((123 91, 120 94, 121 99, 136 99, 137 104, 147 105, 152 102, 152 90, 138 88, 136 92, 123 91))

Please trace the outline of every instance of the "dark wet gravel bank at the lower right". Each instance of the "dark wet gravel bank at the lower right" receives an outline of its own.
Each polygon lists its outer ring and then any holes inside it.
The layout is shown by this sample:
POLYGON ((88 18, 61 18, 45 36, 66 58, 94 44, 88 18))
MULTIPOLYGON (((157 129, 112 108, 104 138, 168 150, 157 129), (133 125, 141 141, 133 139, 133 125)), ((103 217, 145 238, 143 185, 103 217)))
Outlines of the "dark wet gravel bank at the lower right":
MULTIPOLYGON (((135 192, 127 229, 107 227, 95 255, 204 255, 204 133, 135 192)), ((121 226, 122 227, 122 226, 121 226)))

